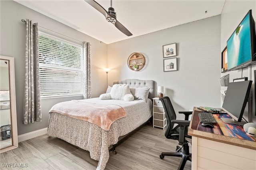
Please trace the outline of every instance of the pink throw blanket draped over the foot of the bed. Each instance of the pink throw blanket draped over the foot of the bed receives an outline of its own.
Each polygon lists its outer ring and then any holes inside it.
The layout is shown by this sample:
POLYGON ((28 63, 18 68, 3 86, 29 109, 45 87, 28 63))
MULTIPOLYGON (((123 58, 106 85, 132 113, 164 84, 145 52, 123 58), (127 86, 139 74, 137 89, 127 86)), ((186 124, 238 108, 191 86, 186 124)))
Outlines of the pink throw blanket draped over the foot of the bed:
POLYGON ((126 112, 118 105, 99 105, 75 100, 58 103, 50 109, 49 113, 51 112, 88 121, 103 130, 109 130, 114 121, 126 117, 126 112))

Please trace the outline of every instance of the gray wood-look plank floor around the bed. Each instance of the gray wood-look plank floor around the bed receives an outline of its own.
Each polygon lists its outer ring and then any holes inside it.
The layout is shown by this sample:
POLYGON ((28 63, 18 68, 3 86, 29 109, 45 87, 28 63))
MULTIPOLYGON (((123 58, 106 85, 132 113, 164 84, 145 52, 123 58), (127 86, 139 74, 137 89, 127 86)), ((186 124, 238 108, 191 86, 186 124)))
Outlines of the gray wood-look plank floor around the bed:
MULTIPOLYGON (((177 170, 180 157, 159 158, 161 152, 174 152, 177 144, 177 140, 166 139, 161 128, 144 125, 116 148, 118 154, 110 152, 105 169, 177 170)), ((0 154, 1 170, 95 170, 97 164, 88 151, 47 134, 20 142, 19 148, 0 154), (6 164, 11 167, 7 168, 6 164)), ((191 170, 190 161, 184 169, 191 170)))

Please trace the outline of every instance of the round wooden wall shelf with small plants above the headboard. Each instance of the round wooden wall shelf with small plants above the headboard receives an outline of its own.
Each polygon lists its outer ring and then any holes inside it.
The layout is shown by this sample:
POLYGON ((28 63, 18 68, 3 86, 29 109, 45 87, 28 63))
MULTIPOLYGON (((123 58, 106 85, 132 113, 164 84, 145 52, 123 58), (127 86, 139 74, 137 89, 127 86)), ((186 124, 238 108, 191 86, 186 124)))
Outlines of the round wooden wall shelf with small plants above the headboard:
POLYGON ((132 53, 127 60, 127 65, 131 70, 139 71, 145 65, 145 57, 142 53, 132 53))

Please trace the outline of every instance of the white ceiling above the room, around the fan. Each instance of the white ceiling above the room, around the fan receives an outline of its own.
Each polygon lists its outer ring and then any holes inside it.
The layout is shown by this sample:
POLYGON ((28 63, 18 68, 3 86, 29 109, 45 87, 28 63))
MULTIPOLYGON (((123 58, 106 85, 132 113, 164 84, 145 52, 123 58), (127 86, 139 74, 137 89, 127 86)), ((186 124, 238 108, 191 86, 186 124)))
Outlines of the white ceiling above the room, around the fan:
MULTIPOLYGON (((225 0, 113 0, 117 20, 133 34, 128 37, 84 0, 14 1, 107 44, 220 15, 225 4, 225 0)), ((96 2, 106 10, 110 7, 110 0, 96 2)))

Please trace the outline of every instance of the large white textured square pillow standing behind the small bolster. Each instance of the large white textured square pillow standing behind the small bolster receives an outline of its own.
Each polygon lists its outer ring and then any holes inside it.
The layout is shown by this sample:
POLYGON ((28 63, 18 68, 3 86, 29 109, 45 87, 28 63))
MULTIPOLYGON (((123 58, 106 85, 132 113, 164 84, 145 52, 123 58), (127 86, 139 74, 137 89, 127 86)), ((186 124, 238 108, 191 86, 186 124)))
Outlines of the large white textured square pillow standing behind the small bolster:
POLYGON ((132 94, 127 84, 115 84, 110 91, 111 99, 116 100, 124 100, 126 94, 132 94))

